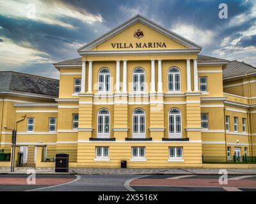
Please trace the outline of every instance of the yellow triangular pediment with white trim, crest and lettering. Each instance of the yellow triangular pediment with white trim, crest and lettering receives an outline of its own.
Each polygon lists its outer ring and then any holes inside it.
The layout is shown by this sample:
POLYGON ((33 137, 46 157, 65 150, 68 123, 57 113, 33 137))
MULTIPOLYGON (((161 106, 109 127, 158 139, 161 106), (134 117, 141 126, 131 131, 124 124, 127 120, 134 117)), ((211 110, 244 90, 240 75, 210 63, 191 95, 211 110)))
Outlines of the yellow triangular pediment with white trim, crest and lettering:
POLYGON ((141 15, 136 15, 124 24, 79 48, 78 52, 187 49, 201 50, 201 47, 141 15))

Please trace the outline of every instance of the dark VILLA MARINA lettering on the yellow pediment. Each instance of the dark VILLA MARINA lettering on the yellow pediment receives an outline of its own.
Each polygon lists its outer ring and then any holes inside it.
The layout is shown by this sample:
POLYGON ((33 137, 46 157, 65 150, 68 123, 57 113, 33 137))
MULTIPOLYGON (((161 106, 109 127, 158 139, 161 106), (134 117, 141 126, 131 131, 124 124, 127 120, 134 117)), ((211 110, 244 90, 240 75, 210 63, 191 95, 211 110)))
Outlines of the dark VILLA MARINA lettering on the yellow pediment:
POLYGON ((129 49, 129 48, 166 48, 166 43, 111 43, 113 49, 129 49))

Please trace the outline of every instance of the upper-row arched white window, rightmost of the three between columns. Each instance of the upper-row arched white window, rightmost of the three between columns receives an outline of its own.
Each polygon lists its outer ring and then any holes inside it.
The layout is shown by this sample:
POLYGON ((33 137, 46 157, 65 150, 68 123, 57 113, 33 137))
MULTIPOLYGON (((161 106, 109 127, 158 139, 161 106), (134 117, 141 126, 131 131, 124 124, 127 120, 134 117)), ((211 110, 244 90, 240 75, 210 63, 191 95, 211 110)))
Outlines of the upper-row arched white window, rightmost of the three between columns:
POLYGON ((170 68, 168 71, 168 91, 180 91, 180 71, 170 68))

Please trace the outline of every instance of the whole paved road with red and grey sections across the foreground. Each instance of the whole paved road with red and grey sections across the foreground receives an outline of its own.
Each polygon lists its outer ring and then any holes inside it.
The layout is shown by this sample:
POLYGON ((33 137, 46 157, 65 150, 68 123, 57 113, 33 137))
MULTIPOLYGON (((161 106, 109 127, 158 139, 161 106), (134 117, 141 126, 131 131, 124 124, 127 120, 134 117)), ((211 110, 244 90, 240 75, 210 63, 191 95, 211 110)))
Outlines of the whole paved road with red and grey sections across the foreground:
POLYGON ((256 191, 256 175, 230 175, 227 185, 219 175, 195 174, 36 175, 36 185, 27 185, 27 177, 0 175, 0 191, 256 191))

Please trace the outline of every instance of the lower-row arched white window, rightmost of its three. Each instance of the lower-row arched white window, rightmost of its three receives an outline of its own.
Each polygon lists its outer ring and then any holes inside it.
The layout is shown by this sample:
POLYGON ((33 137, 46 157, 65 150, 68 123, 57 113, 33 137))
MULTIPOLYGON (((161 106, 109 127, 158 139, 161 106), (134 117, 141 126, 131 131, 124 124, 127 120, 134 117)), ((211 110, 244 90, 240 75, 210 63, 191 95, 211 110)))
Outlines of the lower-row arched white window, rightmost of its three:
POLYGON ((169 137, 181 138, 181 114, 177 108, 169 112, 169 137))

